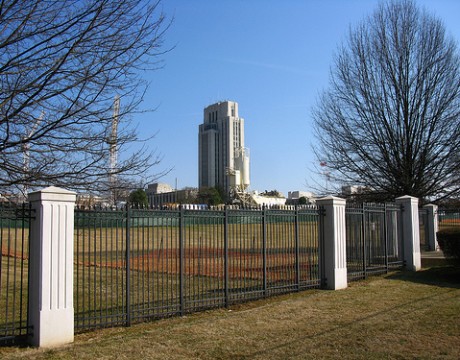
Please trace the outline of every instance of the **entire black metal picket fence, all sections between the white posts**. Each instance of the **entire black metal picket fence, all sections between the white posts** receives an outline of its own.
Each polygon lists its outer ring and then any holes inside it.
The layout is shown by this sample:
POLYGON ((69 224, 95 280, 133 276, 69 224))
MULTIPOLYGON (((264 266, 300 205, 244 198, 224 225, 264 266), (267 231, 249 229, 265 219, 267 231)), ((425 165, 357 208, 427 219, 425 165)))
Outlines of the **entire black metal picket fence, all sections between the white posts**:
MULTIPOLYGON (((403 265, 401 208, 346 207, 349 280, 403 265)), ((459 212, 457 212, 458 214, 459 212)), ((453 215, 443 217, 453 221, 453 215)), ((75 210, 77 331, 320 287, 319 207, 75 210)), ((0 207, 0 343, 29 334, 32 210, 0 207)))

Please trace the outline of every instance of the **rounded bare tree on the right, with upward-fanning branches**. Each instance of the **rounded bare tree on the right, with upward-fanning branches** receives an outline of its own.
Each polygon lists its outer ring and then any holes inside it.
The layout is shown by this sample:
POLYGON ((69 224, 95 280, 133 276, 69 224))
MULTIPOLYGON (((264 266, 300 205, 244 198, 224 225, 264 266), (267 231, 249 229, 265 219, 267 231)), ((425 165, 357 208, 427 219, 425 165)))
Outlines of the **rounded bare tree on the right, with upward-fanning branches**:
POLYGON ((458 48, 413 1, 381 3, 350 30, 313 117, 336 183, 382 199, 460 192, 458 48))

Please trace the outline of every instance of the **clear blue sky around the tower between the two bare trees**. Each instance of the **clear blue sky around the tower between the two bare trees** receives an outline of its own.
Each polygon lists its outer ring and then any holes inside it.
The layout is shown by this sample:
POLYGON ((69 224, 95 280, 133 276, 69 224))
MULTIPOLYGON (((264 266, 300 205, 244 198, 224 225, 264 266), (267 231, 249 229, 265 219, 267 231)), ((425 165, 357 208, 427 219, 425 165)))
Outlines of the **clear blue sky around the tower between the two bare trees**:
MULTIPOLYGON (((460 41, 460 1, 419 0, 460 41)), ((198 125, 203 109, 239 103, 251 154, 251 189, 311 190, 317 163, 311 109, 327 87, 334 51, 378 4, 374 0, 163 0, 174 17, 164 66, 151 81, 135 120, 163 157, 154 170, 178 188, 198 185, 198 125)))

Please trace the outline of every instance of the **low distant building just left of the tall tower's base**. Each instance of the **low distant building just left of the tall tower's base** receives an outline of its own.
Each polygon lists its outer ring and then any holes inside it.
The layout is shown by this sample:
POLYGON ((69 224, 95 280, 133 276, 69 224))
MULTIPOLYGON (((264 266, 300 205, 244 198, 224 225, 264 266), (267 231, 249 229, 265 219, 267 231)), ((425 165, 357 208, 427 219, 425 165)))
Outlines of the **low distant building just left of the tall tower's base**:
POLYGON ((173 190, 168 184, 150 184, 146 190, 150 206, 162 207, 172 204, 189 204, 196 200, 198 189, 173 190))

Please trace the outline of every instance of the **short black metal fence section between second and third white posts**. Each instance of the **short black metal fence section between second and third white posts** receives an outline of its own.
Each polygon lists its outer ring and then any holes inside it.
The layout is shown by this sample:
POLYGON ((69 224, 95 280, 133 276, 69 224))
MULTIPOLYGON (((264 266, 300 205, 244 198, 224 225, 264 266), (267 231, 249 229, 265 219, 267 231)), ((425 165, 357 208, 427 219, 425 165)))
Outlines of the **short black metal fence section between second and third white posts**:
POLYGON ((345 209, 348 280, 403 265, 401 207, 350 204, 345 209))

